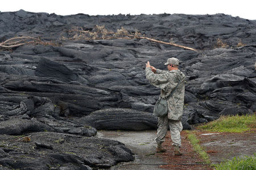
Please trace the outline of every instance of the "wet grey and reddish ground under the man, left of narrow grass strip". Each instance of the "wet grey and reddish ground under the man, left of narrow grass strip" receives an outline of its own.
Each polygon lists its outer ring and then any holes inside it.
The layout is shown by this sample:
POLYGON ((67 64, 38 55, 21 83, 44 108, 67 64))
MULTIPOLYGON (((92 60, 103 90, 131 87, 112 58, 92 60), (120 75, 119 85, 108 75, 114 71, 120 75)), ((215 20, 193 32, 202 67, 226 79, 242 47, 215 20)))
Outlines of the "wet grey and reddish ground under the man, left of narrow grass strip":
POLYGON ((163 147, 166 152, 156 154, 156 131, 98 131, 101 138, 113 139, 122 143, 134 152, 135 160, 129 163, 120 163, 110 169, 210 169, 203 160, 193 151, 187 141, 185 131, 181 132, 183 156, 174 156, 170 133, 166 136, 163 147))

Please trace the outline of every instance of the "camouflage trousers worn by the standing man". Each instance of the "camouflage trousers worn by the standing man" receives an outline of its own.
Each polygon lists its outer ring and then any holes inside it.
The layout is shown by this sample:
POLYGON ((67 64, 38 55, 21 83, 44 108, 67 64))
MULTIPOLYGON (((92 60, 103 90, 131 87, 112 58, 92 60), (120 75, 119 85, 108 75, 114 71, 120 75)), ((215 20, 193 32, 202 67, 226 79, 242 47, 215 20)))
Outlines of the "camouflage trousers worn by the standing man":
POLYGON ((171 131, 172 145, 181 147, 180 131, 183 128, 181 121, 170 120, 168 119, 168 116, 158 117, 158 131, 155 138, 156 143, 160 144, 164 142, 168 125, 171 131))

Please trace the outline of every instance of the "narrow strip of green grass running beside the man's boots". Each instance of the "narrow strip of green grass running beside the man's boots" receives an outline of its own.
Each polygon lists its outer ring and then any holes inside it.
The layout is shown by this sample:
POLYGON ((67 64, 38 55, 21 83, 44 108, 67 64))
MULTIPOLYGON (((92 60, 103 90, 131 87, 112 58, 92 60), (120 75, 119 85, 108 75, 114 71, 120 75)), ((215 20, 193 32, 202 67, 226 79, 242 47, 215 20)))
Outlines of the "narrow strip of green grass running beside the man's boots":
MULTIPOLYGON (((189 132, 188 132, 189 133, 189 132)), ((193 149, 200 155, 200 157, 204 160, 205 163, 210 163, 209 156, 207 152, 204 151, 204 148, 199 145, 199 139, 196 138, 195 134, 189 133, 188 139, 191 142, 193 149)))

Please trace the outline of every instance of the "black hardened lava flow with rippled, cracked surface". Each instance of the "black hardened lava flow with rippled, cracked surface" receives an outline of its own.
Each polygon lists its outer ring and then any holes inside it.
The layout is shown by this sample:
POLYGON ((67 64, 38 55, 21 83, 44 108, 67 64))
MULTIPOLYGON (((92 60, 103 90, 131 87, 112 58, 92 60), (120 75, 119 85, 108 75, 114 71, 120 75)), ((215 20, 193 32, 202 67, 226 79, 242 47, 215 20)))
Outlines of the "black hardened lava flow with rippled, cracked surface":
POLYGON ((0 164, 6 169, 97 169, 133 160, 122 143, 94 136, 97 129, 156 129, 152 111, 160 92, 145 77, 147 61, 166 70, 168 58, 180 60, 187 75, 183 129, 256 111, 255 20, 225 14, 60 16, 20 10, 0 12, 0 21, 0 42, 40 36, 57 44, 0 49, 0 164), (138 30, 197 51, 146 39, 71 39, 74 26, 92 31, 96 25, 113 32, 138 30), (17 135, 31 135, 31 141, 17 135))

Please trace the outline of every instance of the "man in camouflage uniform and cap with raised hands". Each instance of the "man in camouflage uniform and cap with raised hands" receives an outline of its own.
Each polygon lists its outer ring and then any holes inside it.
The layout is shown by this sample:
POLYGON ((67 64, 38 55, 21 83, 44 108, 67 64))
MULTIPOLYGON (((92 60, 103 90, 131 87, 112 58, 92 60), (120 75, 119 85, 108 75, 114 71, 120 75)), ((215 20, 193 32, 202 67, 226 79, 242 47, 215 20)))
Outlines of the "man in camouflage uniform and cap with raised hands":
POLYGON ((178 68, 179 59, 177 58, 168 58, 164 65, 167 65, 168 71, 156 69, 150 66, 150 62, 146 63, 146 78, 150 84, 161 89, 160 97, 167 99, 172 93, 167 101, 168 114, 164 117, 158 117, 158 130, 155 138, 158 144, 156 152, 166 151, 162 148, 162 143, 169 125, 174 155, 182 155, 179 148, 181 147, 180 131, 183 128, 181 116, 184 105, 185 75, 178 68))

